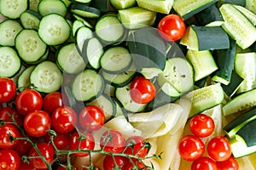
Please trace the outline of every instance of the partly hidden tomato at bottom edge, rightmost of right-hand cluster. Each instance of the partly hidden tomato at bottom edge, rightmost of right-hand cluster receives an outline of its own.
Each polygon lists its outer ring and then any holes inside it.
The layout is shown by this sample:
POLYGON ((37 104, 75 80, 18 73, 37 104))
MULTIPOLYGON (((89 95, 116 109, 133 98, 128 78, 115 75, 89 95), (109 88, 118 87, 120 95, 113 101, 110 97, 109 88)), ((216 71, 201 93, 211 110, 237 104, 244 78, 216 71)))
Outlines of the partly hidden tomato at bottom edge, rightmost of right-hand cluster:
POLYGON ((239 164, 236 161, 234 156, 230 156, 230 158, 226 161, 216 161, 218 170, 238 170, 239 164))

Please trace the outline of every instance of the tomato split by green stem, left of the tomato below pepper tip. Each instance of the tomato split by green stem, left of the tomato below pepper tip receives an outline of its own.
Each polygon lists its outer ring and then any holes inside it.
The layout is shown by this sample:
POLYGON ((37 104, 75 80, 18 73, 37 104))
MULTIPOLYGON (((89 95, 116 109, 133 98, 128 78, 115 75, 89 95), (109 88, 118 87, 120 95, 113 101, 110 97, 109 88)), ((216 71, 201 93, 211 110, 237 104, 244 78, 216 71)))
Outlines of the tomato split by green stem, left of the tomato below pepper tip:
MULTIPOLYGON (((81 139, 79 133, 73 132, 70 142, 70 150, 94 150, 95 140, 90 132, 84 133, 84 137, 81 139), (80 147, 79 147, 80 144, 80 147)), ((88 152, 74 153, 75 156, 89 156, 88 152)))

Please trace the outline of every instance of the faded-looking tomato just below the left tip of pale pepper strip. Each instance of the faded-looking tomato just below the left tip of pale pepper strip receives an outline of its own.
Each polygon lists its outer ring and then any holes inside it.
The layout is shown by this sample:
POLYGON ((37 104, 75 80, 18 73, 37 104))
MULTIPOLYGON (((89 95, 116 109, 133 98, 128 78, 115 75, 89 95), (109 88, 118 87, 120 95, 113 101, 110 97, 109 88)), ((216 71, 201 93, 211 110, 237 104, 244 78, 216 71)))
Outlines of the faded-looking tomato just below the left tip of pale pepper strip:
POLYGON ((125 137, 119 131, 108 130, 102 134, 100 146, 105 151, 120 153, 125 149, 125 137))

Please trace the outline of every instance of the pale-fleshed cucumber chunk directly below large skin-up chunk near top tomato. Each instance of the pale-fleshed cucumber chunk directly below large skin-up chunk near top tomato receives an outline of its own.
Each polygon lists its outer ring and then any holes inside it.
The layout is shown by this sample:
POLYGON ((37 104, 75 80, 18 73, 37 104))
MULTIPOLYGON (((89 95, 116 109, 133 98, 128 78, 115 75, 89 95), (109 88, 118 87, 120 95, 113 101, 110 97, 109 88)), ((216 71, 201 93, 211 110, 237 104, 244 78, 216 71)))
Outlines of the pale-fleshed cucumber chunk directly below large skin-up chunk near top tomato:
POLYGON ((195 82, 209 76, 213 71, 218 69, 211 52, 208 50, 195 51, 189 49, 186 57, 191 65, 193 65, 195 82))

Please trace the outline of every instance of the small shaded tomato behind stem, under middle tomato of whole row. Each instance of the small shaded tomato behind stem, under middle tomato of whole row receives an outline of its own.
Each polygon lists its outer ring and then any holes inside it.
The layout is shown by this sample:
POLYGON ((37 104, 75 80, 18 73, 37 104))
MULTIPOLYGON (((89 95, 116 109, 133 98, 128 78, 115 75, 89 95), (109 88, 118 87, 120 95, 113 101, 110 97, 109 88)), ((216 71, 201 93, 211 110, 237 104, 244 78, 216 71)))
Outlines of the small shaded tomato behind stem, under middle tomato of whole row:
MULTIPOLYGON (((53 139, 53 142, 55 143, 55 146, 58 150, 63 150, 67 148, 67 146, 70 143, 70 133, 56 133, 55 138, 53 139)), ((49 142, 50 136, 49 133, 44 135, 44 142, 49 142)))

